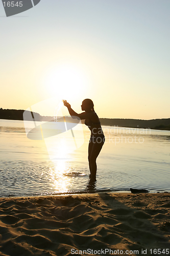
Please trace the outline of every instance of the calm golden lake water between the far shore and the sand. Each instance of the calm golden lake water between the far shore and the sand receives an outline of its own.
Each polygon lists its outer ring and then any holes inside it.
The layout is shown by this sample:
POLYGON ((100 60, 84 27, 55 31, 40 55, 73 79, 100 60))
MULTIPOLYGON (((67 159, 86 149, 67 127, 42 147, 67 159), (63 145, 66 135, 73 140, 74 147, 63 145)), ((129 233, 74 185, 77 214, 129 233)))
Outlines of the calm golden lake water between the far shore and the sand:
POLYGON ((106 141, 97 160, 96 182, 91 184, 86 125, 74 128, 75 138, 70 130, 31 140, 23 121, 0 119, 0 197, 130 191, 130 187, 170 192, 169 131, 112 126, 103 126, 103 131, 106 141), (75 139, 78 146, 71 151, 75 139))

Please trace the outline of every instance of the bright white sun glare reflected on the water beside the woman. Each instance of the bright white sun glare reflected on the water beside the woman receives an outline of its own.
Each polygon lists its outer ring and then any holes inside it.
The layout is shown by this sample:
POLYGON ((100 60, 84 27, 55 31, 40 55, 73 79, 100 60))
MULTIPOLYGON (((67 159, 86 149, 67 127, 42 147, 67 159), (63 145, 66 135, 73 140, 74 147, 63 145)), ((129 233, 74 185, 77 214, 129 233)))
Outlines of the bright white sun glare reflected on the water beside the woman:
POLYGON ((53 167, 49 169, 49 185, 53 191, 67 193, 72 188, 75 176, 85 176, 69 163, 74 161, 72 152, 75 150, 71 131, 47 138, 46 146, 53 163, 53 167))

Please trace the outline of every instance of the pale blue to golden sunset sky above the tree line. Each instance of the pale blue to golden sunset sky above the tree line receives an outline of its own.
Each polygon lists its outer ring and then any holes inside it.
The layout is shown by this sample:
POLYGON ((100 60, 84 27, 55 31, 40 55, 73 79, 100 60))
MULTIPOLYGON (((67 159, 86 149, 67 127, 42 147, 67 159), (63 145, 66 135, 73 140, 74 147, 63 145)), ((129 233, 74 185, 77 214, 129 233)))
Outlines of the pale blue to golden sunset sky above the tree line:
POLYGON ((99 117, 170 118, 169 13, 169 0, 41 0, 6 17, 0 2, 0 108, 57 96, 78 113, 90 98, 99 117))

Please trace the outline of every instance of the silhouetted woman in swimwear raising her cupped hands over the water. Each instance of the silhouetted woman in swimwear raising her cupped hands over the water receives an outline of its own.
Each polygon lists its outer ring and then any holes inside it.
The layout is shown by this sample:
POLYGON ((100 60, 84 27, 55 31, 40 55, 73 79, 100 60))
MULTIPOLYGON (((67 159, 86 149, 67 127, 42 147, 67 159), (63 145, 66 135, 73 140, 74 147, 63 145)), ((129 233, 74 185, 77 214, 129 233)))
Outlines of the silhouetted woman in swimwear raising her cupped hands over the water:
POLYGON ((77 116, 80 119, 85 119, 85 124, 89 127, 91 131, 91 137, 88 145, 88 162, 90 169, 90 179, 95 181, 96 177, 96 158, 101 152, 102 146, 105 142, 105 136, 101 127, 101 123, 98 115, 94 111, 94 104, 91 99, 85 99, 82 102, 81 108, 82 111, 85 111, 81 114, 76 113, 71 109, 70 104, 63 100, 64 106, 67 107, 69 114, 74 117, 77 116))

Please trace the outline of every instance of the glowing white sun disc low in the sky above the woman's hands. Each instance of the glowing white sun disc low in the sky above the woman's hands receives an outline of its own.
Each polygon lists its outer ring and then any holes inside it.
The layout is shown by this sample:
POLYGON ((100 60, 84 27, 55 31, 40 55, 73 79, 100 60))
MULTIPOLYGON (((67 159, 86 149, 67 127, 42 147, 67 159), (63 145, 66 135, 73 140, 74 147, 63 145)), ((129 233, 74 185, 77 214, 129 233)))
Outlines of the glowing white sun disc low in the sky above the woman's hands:
MULTIPOLYGON (((46 76, 46 86, 53 96, 75 100, 88 92, 87 75, 79 67, 62 64, 51 68, 46 76)), ((82 97, 83 98, 83 97, 82 97)))

